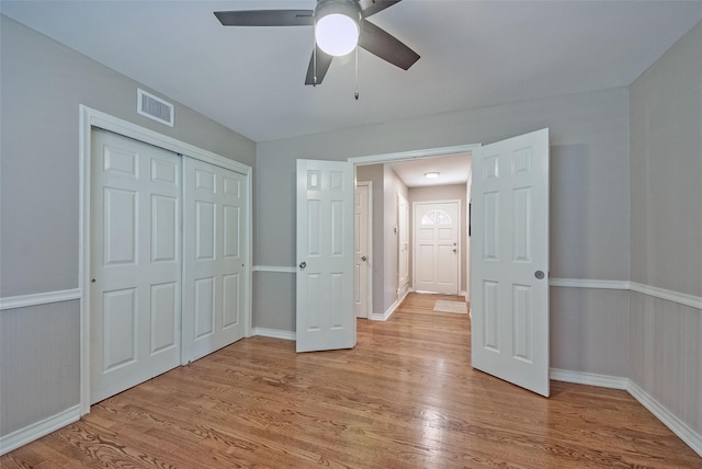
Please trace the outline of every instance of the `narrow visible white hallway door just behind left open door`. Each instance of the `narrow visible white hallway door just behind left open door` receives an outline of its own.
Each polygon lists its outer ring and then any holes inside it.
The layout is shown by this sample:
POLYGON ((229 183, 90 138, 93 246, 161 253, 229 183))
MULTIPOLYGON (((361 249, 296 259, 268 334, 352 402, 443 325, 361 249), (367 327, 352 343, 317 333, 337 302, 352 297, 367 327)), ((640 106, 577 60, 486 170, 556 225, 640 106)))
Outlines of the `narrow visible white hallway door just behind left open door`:
POLYGON ((370 182, 355 185, 353 209, 353 309, 356 318, 367 318, 371 295, 371 190, 370 182))

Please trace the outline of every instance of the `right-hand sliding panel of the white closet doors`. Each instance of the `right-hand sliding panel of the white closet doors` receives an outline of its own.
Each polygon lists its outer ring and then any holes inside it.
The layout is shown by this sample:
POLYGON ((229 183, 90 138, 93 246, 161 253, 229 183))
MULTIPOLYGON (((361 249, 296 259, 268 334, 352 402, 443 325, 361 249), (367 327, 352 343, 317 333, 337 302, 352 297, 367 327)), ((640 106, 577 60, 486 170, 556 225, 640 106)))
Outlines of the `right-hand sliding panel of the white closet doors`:
POLYGON ((245 335, 246 183, 244 174, 183 157, 183 363, 245 335))

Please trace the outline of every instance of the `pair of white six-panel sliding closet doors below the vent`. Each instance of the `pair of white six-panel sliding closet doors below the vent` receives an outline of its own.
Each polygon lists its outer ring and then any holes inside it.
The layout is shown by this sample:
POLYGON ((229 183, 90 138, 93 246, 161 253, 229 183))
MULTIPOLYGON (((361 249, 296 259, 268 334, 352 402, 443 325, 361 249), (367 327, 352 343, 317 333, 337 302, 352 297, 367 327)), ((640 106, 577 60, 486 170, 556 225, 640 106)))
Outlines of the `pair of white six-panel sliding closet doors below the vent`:
POLYGON ((91 403, 245 334, 247 176, 92 131, 91 403))

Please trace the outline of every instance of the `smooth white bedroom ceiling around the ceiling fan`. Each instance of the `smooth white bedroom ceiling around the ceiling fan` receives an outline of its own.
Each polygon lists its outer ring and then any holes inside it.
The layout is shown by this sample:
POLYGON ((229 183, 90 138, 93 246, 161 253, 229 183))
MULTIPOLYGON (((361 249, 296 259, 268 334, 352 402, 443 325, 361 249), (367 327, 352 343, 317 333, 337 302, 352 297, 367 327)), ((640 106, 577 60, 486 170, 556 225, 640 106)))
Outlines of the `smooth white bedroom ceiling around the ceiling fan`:
POLYGON ((2 14, 256 140, 629 85, 702 20, 702 1, 404 0, 371 21, 421 58, 360 52, 305 87, 312 28, 224 27, 216 10, 314 0, 5 1, 2 14))

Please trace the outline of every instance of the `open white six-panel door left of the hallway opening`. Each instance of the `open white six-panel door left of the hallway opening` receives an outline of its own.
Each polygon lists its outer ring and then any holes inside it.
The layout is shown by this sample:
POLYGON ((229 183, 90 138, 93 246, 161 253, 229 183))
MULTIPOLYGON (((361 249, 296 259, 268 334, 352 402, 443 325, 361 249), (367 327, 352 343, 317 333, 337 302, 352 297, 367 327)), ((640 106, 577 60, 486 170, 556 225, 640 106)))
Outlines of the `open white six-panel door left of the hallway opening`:
POLYGON ((297 352, 351 348, 353 165, 297 160, 297 352))

